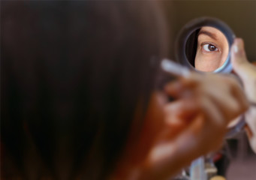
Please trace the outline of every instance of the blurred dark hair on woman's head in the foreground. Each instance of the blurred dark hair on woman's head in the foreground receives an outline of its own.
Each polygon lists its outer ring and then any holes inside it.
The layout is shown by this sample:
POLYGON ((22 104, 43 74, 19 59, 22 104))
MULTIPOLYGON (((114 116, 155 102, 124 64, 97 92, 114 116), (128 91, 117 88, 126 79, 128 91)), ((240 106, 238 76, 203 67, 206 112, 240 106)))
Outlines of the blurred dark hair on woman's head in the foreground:
POLYGON ((165 55, 157 4, 2 1, 1 22, 5 178, 106 178, 165 55))

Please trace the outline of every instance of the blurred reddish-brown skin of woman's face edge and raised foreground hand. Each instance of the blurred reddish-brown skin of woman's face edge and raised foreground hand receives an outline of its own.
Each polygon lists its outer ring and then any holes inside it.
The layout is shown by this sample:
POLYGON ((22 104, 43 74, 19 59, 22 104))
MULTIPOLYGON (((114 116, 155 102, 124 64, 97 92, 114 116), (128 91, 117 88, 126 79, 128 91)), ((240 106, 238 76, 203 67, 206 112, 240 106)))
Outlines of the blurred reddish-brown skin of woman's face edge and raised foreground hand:
MULTIPOLYGON (((239 84, 218 74, 192 74, 155 92, 139 136, 133 128, 110 179, 167 179, 191 160, 218 149, 228 122, 248 108, 239 84), (218 132, 218 133, 216 133, 218 132)), ((135 117, 136 119, 136 117, 135 117)))

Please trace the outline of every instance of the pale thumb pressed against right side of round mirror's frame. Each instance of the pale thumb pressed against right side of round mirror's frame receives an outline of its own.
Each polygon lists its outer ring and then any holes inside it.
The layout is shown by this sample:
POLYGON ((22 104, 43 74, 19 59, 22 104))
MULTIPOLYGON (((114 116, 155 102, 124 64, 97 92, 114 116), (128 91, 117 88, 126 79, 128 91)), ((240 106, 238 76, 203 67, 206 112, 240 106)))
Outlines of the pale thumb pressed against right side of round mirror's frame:
POLYGON ((242 79, 245 78, 245 74, 248 72, 249 62, 245 55, 244 43, 241 38, 236 38, 231 46, 231 63, 233 70, 242 79))

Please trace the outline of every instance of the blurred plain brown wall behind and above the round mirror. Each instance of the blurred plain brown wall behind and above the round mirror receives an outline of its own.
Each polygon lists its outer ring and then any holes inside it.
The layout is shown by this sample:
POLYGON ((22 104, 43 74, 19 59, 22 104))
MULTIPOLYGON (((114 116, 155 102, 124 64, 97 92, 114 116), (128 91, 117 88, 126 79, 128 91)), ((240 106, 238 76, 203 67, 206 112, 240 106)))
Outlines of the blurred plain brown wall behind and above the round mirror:
POLYGON ((246 1, 162 1, 170 26, 170 58, 178 31, 196 17, 216 17, 245 40, 248 59, 256 62, 256 0, 246 1))

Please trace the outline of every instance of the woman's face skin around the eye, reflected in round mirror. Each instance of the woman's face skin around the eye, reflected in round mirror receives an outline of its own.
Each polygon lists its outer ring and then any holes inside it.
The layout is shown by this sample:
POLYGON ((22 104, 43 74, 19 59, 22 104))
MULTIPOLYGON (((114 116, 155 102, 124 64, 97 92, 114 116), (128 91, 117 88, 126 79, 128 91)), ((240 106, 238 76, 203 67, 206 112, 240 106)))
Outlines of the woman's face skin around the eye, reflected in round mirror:
POLYGON ((199 71, 215 71, 227 59, 227 38, 217 28, 205 26, 200 29, 197 38, 197 54, 194 66, 199 71))

